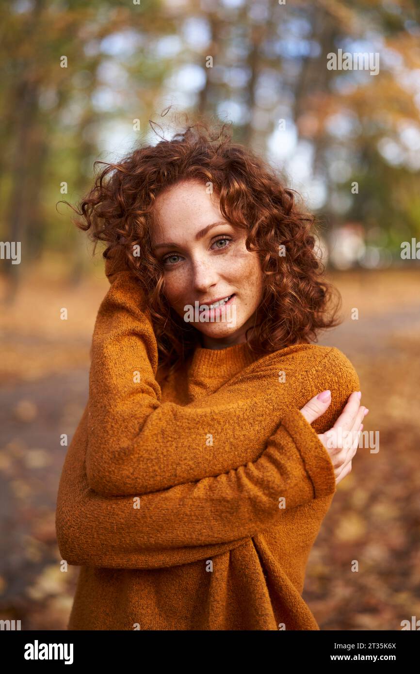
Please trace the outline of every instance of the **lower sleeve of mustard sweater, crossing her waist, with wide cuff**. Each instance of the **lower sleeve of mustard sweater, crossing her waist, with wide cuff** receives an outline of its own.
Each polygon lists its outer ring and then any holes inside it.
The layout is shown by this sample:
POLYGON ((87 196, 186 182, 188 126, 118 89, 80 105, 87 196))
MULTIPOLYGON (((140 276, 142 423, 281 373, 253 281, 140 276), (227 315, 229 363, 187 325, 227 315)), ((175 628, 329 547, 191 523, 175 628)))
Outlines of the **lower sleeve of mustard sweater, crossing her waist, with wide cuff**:
POLYGON ((86 410, 61 475, 56 528, 69 564, 160 568, 237 547, 288 508, 336 490, 318 435, 291 410, 260 458, 226 474, 140 497, 104 497, 84 470, 86 410))

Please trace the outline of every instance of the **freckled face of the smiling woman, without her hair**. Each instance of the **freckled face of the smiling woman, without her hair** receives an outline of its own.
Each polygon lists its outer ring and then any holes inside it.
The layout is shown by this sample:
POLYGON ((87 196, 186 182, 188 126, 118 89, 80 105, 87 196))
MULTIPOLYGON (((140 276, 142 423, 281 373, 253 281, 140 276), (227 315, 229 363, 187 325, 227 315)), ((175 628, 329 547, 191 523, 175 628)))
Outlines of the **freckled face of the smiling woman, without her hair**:
POLYGON ((197 181, 173 185, 155 206, 152 247, 171 307, 200 331, 204 348, 245 342, 263 292, 260 259, 247 251, 246 231, 224 220, 218 197, 197 181), (224 307, 210 308, 231 295, 224 307))

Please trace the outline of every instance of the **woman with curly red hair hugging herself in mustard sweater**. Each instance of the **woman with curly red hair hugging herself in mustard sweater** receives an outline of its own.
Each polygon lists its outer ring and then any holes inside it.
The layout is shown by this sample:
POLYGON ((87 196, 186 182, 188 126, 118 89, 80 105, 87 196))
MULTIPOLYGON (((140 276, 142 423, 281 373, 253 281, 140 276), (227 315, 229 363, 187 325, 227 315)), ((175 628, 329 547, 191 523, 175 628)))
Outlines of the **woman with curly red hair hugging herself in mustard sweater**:
POLYGON ((319 630, 305 565, 365 408, 310 343, 336 325, 313 218, 204 125, 109 165, 81 214, 111 287, 57 499, 69 630, 319 630))

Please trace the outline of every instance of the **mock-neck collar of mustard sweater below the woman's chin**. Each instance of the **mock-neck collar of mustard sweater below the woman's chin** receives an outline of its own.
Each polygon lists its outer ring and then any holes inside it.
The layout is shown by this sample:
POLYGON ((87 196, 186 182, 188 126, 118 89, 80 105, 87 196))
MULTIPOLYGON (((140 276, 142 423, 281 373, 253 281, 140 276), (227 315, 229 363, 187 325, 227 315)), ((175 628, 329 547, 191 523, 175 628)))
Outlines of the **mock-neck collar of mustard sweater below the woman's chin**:
POLYGON ((189 367, 189 376, 203 374, 214 379, 231 378, 257 359, 258 356, 249 349, 247 342, 217 349, 197 346, 189 367))

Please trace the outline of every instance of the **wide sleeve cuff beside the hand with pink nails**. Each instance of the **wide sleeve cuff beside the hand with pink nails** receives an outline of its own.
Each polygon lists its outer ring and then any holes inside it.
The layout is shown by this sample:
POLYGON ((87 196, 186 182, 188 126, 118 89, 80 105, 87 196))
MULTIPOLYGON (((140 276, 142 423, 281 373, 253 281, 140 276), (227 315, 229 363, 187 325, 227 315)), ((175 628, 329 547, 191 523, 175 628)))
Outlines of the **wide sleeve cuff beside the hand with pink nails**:
POLYGON ((315 498, 334 493, 336 491, 334 466, 313 427, 297 409, 287 412, 281 420, 281 425, 292 437, 301 454, 305 470, 313 485, 315 498))

